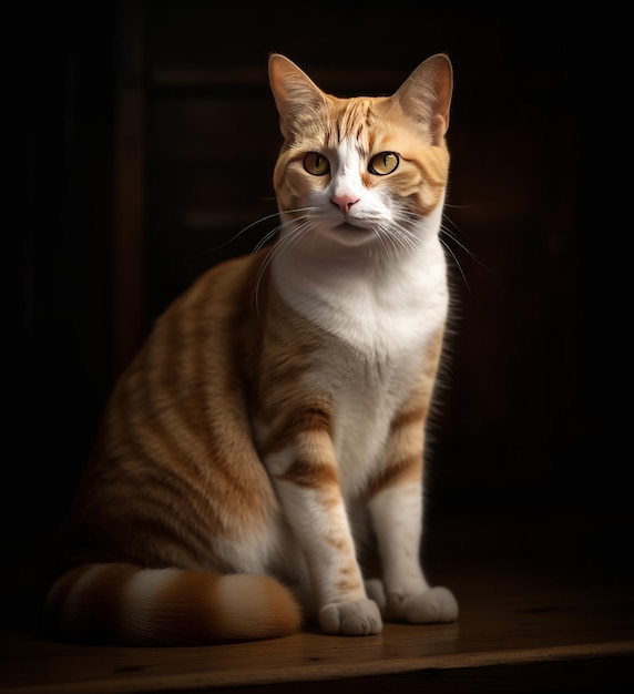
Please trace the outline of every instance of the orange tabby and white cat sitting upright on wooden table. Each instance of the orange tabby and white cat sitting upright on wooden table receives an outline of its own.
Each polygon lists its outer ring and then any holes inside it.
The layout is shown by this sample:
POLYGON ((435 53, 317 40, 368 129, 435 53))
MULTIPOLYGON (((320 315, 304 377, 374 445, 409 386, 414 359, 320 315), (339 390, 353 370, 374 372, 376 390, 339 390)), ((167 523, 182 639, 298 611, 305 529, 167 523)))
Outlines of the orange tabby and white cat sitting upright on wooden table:
POLYGON ((449 314, 452 65, 330 95, 268 57, 280 225, 208 269, 114 385, 45 601, 55 637, 192 645, 458 619, 420 561, 449 314))

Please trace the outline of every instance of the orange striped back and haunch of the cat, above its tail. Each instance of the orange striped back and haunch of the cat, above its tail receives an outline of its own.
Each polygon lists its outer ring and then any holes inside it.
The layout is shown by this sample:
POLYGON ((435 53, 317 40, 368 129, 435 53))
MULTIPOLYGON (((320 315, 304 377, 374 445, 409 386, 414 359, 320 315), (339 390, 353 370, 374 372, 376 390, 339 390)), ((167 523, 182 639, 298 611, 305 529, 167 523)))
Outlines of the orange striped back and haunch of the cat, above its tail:
POLYGON ((275 513, 243 368, 266 255, 207 271, 117 380, 69 518, 69 563, 204 567, 209 537, 257 534, 275 513))

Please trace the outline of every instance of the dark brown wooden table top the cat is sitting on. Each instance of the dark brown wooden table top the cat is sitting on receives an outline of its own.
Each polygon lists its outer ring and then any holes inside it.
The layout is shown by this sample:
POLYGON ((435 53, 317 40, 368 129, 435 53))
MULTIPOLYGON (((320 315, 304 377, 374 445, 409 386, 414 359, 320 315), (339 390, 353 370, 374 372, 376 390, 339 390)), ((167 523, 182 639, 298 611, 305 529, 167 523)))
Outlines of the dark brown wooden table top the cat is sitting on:
MULTIPOLYGON (((552 544, 539 551, 553 534, 544 519, 513 530, 533 534, 511 549, 501 544, 500 519, 484 529, 461 522, 444 525, 446 551, 432 548, 429 560, 434 582, 458 596, 453 624, 388 624, 369 637, 307 630, 207 647, 104 647, 42 637, 34 605, 20 608, 28 595, 4 594, 12 619, 0 635, 0 692, 634 691, 634 590, 621 563, 573 561, 552 544), (492 544, 473 544, 477 537, 492 544)), ((558 525, 555 539, 561 533, 558 525)))

